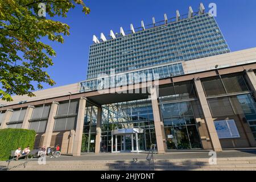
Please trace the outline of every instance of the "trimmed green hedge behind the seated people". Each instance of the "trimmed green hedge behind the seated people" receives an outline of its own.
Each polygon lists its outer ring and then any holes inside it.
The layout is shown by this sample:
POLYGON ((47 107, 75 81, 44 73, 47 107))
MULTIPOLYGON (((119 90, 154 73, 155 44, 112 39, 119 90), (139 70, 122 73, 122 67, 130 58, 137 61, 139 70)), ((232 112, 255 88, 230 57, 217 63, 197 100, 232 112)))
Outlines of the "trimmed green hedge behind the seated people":
POLYGON ((8 160, 12 150, 18 147, 34 148, 36 132, 26 129, 1 129, 0 130, 0 160, 8 160))

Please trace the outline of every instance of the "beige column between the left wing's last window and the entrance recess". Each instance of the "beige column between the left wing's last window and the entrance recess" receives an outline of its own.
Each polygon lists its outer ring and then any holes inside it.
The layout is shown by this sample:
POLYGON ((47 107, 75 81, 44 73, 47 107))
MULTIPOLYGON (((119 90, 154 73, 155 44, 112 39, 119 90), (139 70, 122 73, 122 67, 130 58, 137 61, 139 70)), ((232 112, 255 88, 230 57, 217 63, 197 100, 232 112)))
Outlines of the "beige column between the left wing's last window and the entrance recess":
POLYGON ((82 146, 82 132, 84 130, 84 117, 85 117, 86 100, 81 97, 79 101, 79 111, 77 113, 76 133, 73 143, 73 156, 81 155, 82 146))

